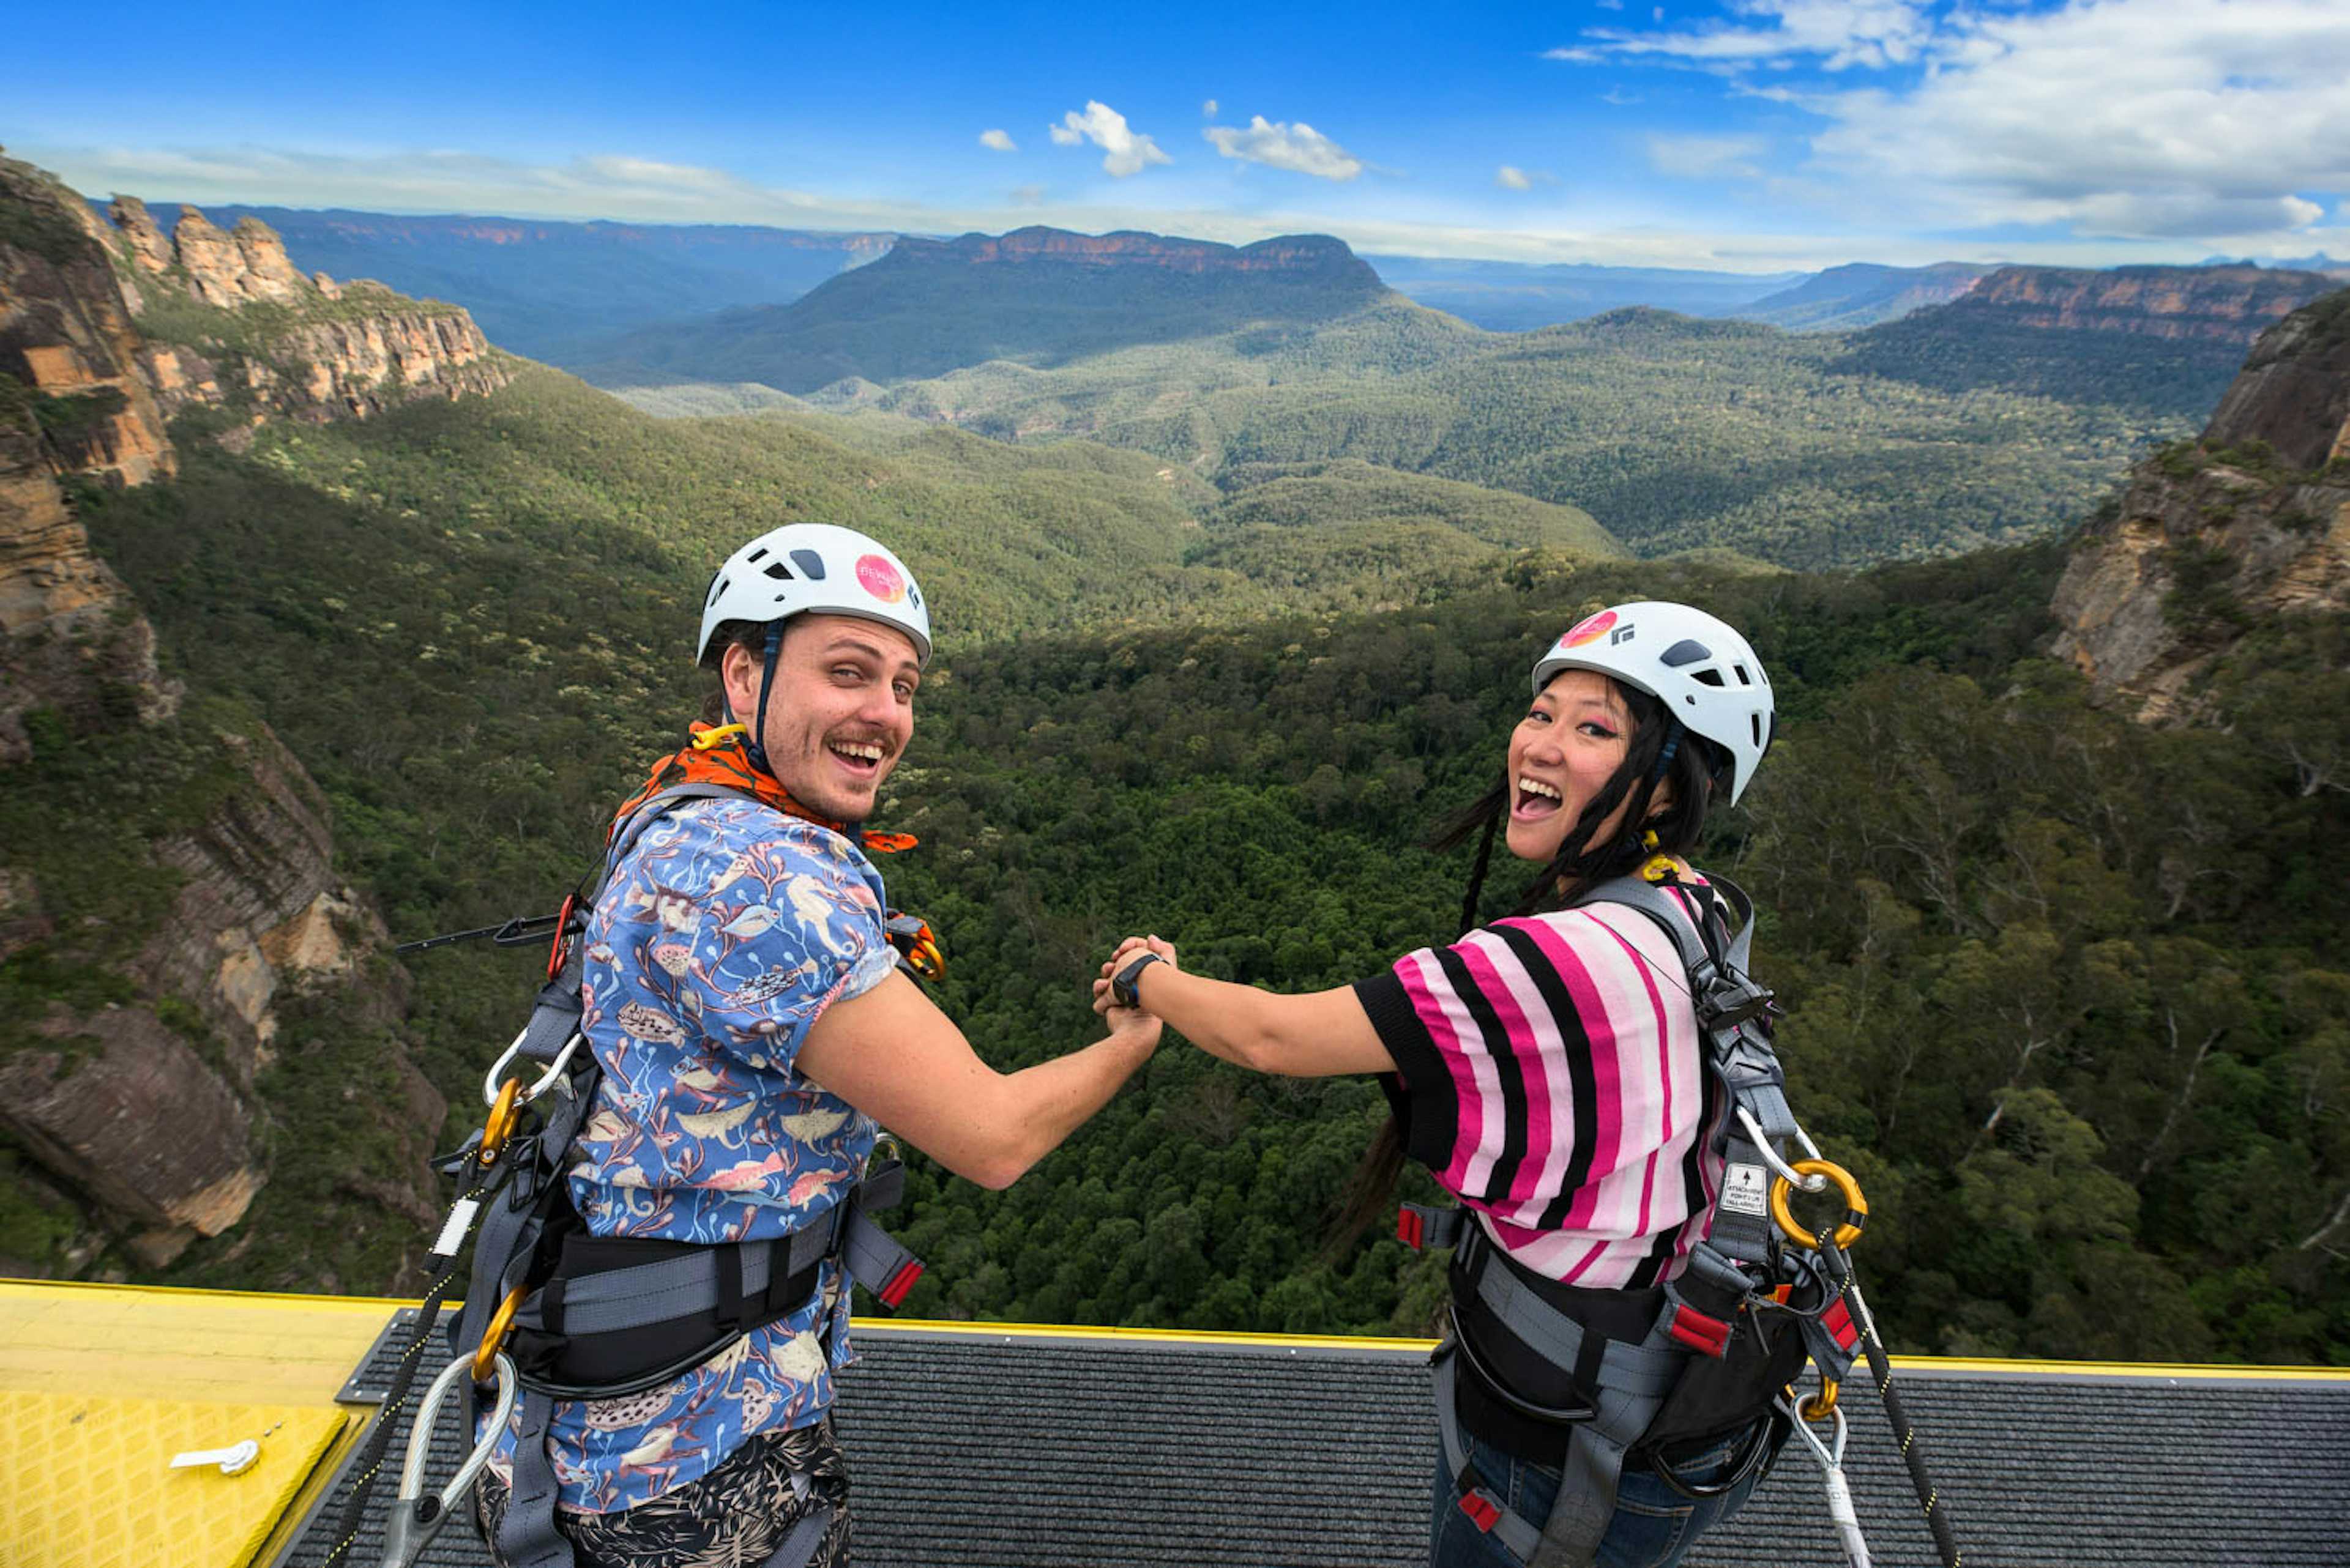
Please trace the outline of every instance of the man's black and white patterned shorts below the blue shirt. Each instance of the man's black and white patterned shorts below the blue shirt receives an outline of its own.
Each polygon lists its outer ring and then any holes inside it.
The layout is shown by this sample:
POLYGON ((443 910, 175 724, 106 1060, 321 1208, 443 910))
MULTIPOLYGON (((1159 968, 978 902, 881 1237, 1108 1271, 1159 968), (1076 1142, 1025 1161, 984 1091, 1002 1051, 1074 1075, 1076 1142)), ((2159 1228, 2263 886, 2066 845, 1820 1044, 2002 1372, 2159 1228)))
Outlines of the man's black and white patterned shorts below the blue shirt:
MULTIPOLYGON (((830 1505, 832 1528, 811 1568, 848 1561, 848 1462, 832 1418, 743 1443, 700 1481, 618 1514, 557 1512, 578 1568, 745 1568, 764 1563, 811 1509, 830 1505)), ((498 1540, 505 1486, 489 1472, 475 1493, 482 1535, 498 1540)))

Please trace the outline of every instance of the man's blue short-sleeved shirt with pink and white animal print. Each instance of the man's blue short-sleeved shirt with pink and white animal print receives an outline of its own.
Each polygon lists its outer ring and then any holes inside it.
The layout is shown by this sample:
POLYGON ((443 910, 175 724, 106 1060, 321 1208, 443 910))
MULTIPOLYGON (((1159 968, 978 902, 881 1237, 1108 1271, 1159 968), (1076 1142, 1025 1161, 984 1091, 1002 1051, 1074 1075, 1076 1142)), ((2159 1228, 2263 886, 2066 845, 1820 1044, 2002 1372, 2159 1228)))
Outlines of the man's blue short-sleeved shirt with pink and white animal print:
MULTIPOLYGON (((604 1077, 571 1199, 590 1234, 754 1241, 841 1201, 874 1124, 792 1060, 827 1006, 895 966, 881 922, 881 875, 830 827, 726 797, 644 830, 585 936, 580 1032, 604 1077)), ((827 1262, 804 1307, 684 1378, 557 1403, 559 1505, 611 1514, 698 1481, 745 1439, 820 1420, 846 1363, 848 1291, 827 1262)), ((512 1436, 505 1479, 510 1455, 512 1436)))

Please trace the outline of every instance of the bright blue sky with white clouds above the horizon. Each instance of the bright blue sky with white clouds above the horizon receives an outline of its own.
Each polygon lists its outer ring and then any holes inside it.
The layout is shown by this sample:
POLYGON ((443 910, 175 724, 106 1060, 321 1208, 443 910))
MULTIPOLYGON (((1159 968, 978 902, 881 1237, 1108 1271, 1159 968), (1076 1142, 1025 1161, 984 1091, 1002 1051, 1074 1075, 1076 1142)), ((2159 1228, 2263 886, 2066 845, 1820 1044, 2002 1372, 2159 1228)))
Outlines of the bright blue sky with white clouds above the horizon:
POLYGON ((2350 0, 70 7, 0 141, 150 200, 1723 270, 2350 256, 2350 0))

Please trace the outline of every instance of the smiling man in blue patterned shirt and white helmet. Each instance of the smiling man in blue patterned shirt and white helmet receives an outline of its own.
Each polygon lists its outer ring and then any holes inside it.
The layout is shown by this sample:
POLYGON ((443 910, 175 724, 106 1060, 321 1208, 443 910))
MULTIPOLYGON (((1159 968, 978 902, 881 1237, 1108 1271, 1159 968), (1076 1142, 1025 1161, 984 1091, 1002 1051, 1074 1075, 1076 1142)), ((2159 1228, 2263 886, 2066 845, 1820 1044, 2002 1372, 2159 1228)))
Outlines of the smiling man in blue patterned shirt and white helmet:
MULTIPOLYGON (((1006 1187, 1159 1044, 1154 1018, 1121 1009, 1107 1039, 999 1074, 900 973, 865 849, 909 839, 858 827, 912 741, 931 658, 928 607, 895 555, 830 524, 761 534, 712 578, 698 658, 731 722, 698 726, 630 806, 679 783, 719 792, 616 830, 583 936, 580 1032, 602 1067, 569 1166, 585 1234, 562 1244, 557 1274, 592 1269, 597 1248, 724 1258, 832 1225, 877 1124, 1006 1187)), ((552 1406, 562 1542, 510 1509, 517 1418, 479 1497, 501 1561, 555 1563, 564 1547, 580 1568, 844 1561, 830 1403, 848 1288, 837 1258, 813 1279, 677 1378, 552 1406)))

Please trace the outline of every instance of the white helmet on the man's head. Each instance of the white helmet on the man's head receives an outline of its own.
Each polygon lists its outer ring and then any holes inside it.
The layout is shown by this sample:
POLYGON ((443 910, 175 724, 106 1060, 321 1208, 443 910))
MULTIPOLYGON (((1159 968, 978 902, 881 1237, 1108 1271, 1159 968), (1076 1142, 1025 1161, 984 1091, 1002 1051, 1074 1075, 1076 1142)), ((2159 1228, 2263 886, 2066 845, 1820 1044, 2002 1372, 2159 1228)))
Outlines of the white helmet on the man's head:
POLYGON ((931 607, 914 574, 886 545, 830 522, 768 529, 726 557, 703 599, 693 661, 710 658, 710 642, 728 621, 766 625, 808 614, 895 625, 914 639, 914 663, 931 663, 931 607))

